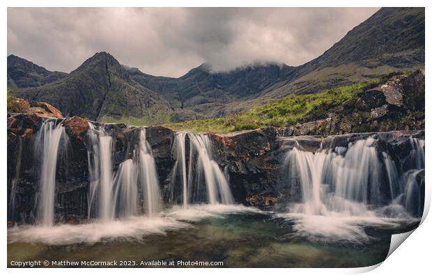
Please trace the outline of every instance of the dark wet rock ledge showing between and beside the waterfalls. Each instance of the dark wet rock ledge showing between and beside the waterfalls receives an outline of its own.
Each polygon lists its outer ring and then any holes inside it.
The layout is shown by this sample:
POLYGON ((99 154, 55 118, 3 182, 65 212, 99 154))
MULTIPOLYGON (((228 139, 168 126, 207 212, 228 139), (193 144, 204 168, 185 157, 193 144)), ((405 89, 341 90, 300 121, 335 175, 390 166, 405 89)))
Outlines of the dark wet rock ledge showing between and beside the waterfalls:
MULTIPOLYGON (((43 120, 35 114, 8 115, 8 219, 33 222, 35 201, 40 178, 40 155, 36 135, 43 120)), ((68 136, 61 144, 56 170, 56 219, 79 221, 87 215, 88 196, 88 122, 77 116, 58 118, 68 136)), ((113 138, 112 166, 114 171, 139 142, 139 127, 123 124, 102 125, 113 138)), ((213 158, 229 176, 235 201, 262 209, 283 207, 286 202, 301 200, 298 178, 287 178, 284 166, 286 152, 293 148, 316 152, 320 148, 348 147, 360 139, 377 140, 379 158, 385 154, 394 159, 398 171, 410 169, 412 137, 424 139, 424 131, 346 134, 320 136, 281 136, 281 129, 268 127, 232 134, 210 134, 213 158), (384 154, 385 153, 385 154, 384 154)), ((155 158, 157 175, 165 205, 178 203, 179 187, 173 186, 173 166, 176 162, 174 133, 166 127, 149 127, 146 139, 155 158)), ((189 148, 186 139, 186 148, 189 148)), ((186 150, 188 151, 188 150, 186 150)), ((383 181, 383 203, 389 201, 388 184, 383 181)))

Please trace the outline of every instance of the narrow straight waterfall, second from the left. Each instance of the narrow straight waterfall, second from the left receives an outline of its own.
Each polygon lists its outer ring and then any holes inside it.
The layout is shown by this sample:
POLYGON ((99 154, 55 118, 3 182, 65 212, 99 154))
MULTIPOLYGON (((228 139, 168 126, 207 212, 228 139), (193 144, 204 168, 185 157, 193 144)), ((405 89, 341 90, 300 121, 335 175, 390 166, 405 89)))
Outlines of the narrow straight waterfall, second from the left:
POLYGON ((88 192, 88 217, 92 207, 98 207, 97 217, 102 221, 114 219, 114 194, 111 163, 112 138, 103 127, 88 123, 88 172, 90 188, 88 192), (98 204, 96 205, 96 202, 98 204))

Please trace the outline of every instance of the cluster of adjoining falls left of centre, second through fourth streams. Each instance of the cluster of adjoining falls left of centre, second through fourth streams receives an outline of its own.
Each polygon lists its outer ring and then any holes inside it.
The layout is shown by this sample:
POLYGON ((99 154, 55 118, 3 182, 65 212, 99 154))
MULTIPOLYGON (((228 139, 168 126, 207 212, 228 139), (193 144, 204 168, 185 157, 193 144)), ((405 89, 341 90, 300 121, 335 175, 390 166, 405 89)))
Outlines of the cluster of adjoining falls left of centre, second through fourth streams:
POLYGON ((146 129, 139 130, 139 144, 131 159, 125 159, 116 172, 113 171, 112 138, 103 127, 89 123, 88 171, 90 189, 88 217, 111 221, 116 217, 128 218, 139 214, 140 191, 142 209, 153 216, 162 208, 155 159, 146 141, 146 129), (114 175, 114 176, 113 176, 114 175), (98 207, 98 211, 92 207, 98 207))

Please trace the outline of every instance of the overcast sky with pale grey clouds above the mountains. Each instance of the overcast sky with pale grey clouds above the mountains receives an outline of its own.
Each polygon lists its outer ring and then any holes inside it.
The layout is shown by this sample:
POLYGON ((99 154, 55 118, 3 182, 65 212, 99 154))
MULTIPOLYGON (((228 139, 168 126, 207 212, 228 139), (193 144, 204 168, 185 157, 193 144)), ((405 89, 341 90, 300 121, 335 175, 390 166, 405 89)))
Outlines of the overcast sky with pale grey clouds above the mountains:
POLYGON ((109 52, 142 72, 179 77, 207 62, 301 65, 378 8, 8 8, 8 54, 70 72, 109 52))

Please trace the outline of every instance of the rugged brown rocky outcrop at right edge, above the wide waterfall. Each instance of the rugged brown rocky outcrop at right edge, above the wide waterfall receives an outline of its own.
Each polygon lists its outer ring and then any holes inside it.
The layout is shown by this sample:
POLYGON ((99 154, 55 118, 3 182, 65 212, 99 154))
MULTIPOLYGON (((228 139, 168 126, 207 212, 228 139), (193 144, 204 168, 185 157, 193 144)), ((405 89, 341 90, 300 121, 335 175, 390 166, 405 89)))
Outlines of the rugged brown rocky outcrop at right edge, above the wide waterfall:
POLYGON ((424 129, 424 72, 396 75, 385 84, 323 113, 316 109, 304 123, 281 129, 281 136, 332 135, 424 129))

